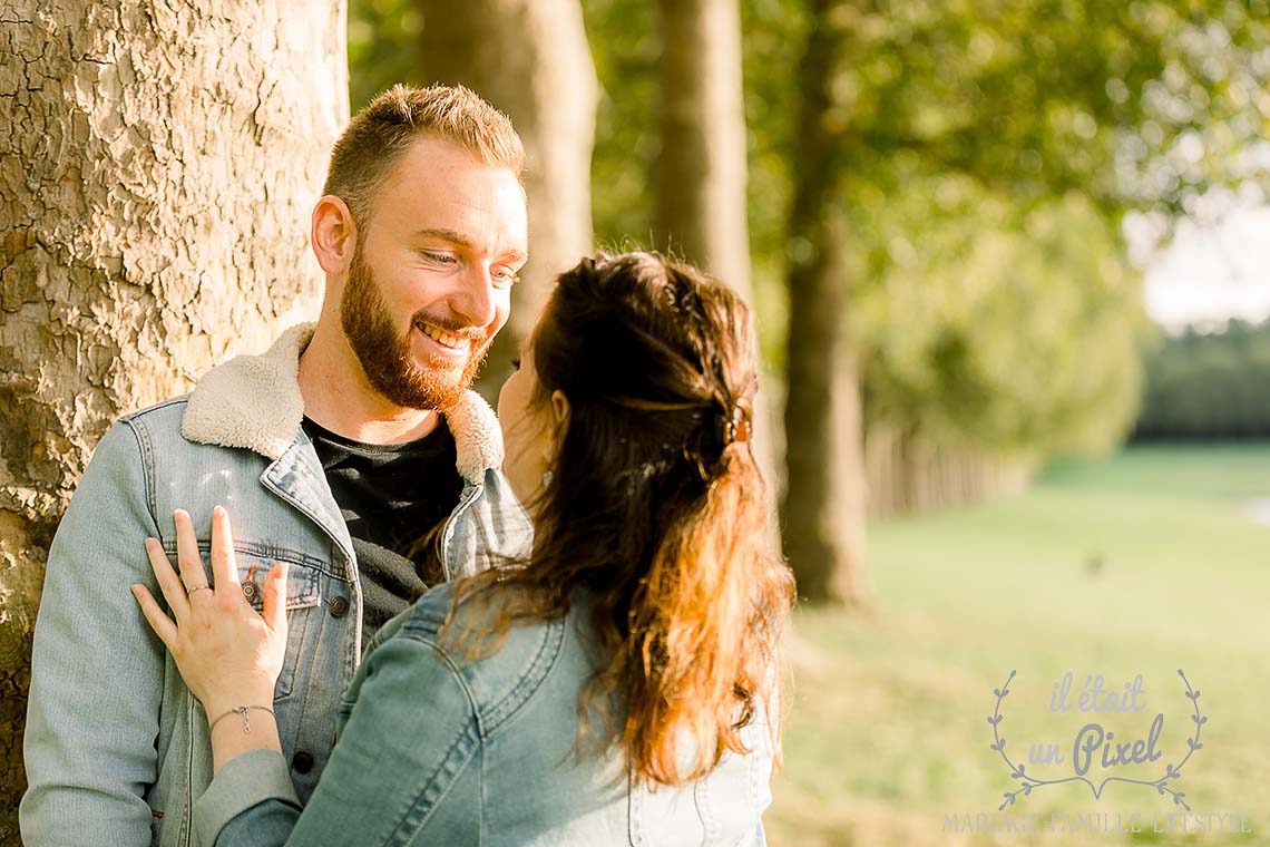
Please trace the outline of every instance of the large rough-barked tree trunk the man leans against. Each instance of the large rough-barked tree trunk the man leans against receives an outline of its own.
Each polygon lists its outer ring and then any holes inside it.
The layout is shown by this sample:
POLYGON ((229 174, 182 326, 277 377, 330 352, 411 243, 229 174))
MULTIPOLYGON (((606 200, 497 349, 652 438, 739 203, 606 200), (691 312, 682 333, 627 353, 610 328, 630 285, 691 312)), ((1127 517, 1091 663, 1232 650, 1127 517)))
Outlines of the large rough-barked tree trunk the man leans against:
POLYGON ((344 25, 326 0, 0 0, 0 844, 46 550, 93 446, 316 306, 344 25))

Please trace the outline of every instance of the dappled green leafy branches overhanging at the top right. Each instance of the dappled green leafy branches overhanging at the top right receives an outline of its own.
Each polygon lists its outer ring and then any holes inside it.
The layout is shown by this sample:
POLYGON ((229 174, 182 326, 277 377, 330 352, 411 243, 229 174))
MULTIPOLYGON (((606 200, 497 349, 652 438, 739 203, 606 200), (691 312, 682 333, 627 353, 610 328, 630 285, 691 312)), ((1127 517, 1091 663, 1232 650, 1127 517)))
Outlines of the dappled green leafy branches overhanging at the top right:
MULTIPOLYGON (((775 75, 784 94, 767 91, 771 113, 792 90, 801 4, 747 5, 751 32, 787 36, 756 44, 751 79, 775 75)), ((1077 190, 1113 216, 1180 210, 1257 173, 1232 154, 1270 122, 1267 15, 1265 0, 831 4, 818 25, 845 42, 839 166, 883 189, 960 173, 1017 202, 1077 190)))

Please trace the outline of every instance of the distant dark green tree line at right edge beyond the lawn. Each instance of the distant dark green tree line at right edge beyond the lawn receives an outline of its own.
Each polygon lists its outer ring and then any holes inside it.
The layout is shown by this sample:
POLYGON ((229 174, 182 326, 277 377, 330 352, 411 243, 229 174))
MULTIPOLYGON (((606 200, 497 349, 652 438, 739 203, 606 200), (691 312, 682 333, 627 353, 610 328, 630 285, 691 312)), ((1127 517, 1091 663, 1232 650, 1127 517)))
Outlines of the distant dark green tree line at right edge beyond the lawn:
POLYGON ((1270 321, 1166 339, 1147 359, 1134 437, 1270 437, 1270 321))

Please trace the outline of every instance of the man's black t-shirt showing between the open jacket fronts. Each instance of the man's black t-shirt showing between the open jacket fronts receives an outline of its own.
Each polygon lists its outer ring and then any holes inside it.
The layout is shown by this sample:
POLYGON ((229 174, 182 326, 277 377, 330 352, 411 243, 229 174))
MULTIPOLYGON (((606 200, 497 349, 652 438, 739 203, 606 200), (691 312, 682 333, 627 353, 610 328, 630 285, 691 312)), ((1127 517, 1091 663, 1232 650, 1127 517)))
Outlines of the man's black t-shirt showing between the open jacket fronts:
POLYGON ((363 444, 304 419, 335 503, 353 537, 362 583, 362 645, 429 585, 444 579, 424 544, 464 490, 444 418, 404 444, 363 444))

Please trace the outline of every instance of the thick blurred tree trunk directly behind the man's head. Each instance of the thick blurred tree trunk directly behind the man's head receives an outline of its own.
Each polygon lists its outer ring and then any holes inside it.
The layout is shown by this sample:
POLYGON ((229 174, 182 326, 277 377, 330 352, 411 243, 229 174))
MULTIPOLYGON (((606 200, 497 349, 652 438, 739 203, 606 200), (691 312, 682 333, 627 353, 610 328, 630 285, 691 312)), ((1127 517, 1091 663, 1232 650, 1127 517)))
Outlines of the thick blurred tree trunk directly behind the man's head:
POLYGON ((498 394, 556 276, 591 253, 591 150, 598 84, 578 0, 419 0, 420 77, 461 84, 507 113, 525 141, 530 262, 490 349, 481 392, 498 394))

